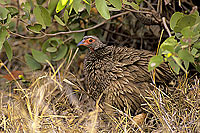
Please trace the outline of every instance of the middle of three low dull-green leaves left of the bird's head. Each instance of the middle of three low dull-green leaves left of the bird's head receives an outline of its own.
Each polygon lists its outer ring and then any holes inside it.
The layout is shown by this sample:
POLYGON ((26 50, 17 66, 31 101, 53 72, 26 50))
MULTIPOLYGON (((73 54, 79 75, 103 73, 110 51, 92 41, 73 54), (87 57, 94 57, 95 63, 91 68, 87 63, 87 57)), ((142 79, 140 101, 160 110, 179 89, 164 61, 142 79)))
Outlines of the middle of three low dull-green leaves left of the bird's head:
POLYGON ((35 50, 35 49, 31 49, 32 51, 32 55, 33 58, 39 62, 39 63, 47 63, 46 60, 50 61, 50 57, 48 55, 46 55, 45 53, 35 50))

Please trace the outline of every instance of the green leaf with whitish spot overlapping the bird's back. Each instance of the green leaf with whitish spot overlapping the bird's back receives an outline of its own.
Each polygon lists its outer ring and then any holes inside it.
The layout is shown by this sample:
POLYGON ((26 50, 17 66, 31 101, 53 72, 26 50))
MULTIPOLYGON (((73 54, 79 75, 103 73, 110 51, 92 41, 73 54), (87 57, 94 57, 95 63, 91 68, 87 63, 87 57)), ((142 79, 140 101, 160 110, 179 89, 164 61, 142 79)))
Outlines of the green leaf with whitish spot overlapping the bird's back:
POLYGON ((152 71, 161 63, 163 63, 163 57, 161 55, 156 55, 156 56, 151 57, 149 65, 148 65, 148 71, 152 71))

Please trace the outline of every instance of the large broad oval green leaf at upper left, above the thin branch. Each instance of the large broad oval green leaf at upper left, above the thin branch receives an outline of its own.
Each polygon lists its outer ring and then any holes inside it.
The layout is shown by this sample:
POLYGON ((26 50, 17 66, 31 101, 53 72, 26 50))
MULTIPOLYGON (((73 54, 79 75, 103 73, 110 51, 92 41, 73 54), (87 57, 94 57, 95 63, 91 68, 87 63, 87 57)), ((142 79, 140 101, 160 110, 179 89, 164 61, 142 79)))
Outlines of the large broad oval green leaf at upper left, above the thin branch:
POLYGON ((43 29, 46 29, 46 26, 51 25, 51 17, 48 10, 42 6, 36 6, 33 9, 33 14, 39 24, 42 25, 43 29))

